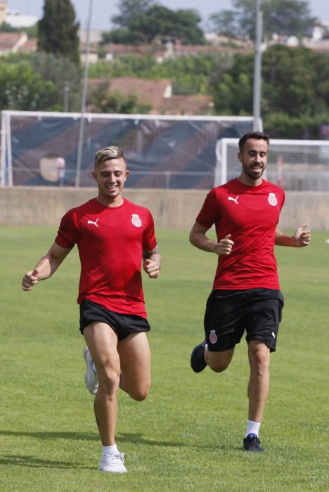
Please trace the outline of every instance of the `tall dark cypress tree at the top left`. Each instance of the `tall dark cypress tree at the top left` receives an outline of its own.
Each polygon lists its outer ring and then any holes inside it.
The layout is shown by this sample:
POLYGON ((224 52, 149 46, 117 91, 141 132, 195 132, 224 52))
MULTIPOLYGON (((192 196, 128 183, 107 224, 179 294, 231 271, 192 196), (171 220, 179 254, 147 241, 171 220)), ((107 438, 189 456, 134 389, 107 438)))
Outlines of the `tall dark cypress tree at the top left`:
POLYGON ((38 22, 38 51, 65 56, 79 64, 79 22, 70 0, 44 0, 38 22))

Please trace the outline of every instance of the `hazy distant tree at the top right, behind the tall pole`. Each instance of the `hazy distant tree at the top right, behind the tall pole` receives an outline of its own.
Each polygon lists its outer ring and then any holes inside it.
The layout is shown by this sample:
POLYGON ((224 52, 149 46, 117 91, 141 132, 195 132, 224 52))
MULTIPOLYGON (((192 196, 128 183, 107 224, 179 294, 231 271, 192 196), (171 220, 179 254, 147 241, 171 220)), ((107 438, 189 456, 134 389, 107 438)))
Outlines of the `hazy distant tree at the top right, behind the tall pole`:
MULTIPOLYGON (((230 37, 254 39, 256 0, 232 0, 234 11, 210 16, 214 29, 230 37)), ((318 20, 311 16, 307 0, 261 0, 264 36, 272 34, 300 37, 310 32, 318 20)))

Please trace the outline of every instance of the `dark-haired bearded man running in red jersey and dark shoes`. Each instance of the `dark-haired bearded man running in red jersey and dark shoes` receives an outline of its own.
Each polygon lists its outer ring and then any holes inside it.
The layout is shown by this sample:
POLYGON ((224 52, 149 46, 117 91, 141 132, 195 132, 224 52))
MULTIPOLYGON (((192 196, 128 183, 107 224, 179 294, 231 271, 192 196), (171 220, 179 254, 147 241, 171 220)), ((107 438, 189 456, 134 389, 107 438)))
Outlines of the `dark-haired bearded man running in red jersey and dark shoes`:
POLYGON ((191 367, 195 373, 207 365, 216 373, 226 370, 246 332, 250 379, 243 448, 254 452, 264 451, 259 427, 283 308, 274 245, 303 247, 311 239, 308 224, 292 236, 278 229, 285 193, 263 178, 268 148, 269 136, 263 132, 240 138, 240 176, 209 192, 190 234, 195 247, 219 257, 205 311, 205 340, 193 349, 191 367), (213 224, 217 241, 206 235, 213 224))

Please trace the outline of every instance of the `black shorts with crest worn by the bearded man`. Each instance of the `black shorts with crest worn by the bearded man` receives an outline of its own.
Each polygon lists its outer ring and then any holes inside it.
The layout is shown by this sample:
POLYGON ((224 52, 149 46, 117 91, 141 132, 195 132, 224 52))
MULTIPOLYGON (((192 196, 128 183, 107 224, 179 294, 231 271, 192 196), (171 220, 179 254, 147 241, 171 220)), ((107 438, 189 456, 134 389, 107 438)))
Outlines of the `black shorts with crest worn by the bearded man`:
POLYGON ((213 290, 205 311, 208 350, 233 349, 246 331, 248 343, 259 340, 275 351, 283 304, 280 290, 213 290))

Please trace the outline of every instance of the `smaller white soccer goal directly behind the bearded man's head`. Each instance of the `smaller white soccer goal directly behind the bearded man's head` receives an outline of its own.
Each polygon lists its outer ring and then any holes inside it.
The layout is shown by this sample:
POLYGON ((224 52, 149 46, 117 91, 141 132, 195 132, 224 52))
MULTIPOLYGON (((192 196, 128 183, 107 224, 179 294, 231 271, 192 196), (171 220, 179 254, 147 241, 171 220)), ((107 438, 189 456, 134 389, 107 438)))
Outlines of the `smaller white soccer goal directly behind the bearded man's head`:
MULTIPOLYGON (((238 139, 221 138, 216 145, 215 186, 240 174, 238 139)), ((329 141, 273 139, 266 179, 285 190, 329 190, 329 141)))

